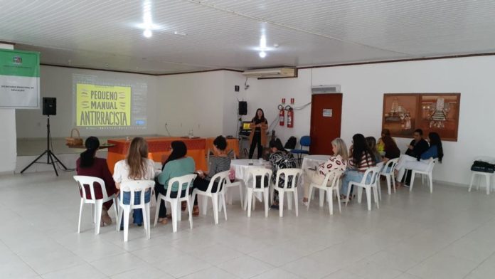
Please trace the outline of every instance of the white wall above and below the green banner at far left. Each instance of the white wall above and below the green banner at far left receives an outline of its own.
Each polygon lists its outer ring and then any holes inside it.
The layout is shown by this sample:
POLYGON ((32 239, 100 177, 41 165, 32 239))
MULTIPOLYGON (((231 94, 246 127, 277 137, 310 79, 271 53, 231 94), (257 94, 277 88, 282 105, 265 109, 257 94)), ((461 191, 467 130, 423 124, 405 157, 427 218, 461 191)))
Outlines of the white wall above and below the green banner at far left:
MULTIPOLYGON (((14 49, 12 45, 0 43, 0 48, 14 49)), ((0 174, 12 173, 16 168, 16 110, 0 108, 0 174)))

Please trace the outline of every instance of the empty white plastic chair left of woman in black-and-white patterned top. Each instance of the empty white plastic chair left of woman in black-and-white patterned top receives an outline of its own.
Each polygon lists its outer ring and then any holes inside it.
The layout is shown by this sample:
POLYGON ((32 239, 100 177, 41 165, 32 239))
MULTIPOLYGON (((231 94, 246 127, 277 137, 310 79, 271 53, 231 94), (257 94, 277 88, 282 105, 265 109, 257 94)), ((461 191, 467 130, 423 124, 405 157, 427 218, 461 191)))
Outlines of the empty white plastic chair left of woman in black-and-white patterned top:
POLYGON ((256 198, 252 199, 252 196, 255 193, 263 194, 265 198, 265 217, 268 217, 268 209, 269 209, 269 198, 270 194, 270 178, 272 177, 272 170, 265 168, 252 168, 249 169, 249 174, 252 177, 252 184, 247 185, 247 194, 246 194, 246 203, 248 204, 248 217, 251 217, 251 204, 252 209, 255 209, 256 198), (260 187, 256 187, 256 177, 260 177, 260 187), (267 177, 267 184, 265 184, 265 177, 267 177))

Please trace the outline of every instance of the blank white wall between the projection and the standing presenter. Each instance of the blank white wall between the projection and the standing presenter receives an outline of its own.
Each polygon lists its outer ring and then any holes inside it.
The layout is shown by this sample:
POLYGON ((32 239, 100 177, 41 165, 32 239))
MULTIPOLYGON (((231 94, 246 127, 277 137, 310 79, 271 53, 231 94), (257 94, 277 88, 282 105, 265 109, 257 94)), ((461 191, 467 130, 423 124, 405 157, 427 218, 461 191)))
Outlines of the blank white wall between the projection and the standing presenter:
MULTIPOLYGON (((159 134, 215 137, 235 135, 237 98, 234 85, 240 85, 242 75, 230 71, 165 75, 158 80, 159 134)), ((243 87, 241 86, 241 90, 243 87)))

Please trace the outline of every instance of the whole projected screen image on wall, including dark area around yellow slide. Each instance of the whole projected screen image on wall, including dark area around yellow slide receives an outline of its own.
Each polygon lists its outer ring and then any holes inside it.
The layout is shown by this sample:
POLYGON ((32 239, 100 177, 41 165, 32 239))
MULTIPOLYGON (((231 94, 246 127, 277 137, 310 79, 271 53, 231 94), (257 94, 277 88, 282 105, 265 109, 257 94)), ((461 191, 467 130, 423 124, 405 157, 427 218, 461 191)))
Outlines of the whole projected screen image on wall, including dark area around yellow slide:
POLYGON ((147 84, 95 75, 73 75, 75 125, 87 129, 144 129, 147 84))

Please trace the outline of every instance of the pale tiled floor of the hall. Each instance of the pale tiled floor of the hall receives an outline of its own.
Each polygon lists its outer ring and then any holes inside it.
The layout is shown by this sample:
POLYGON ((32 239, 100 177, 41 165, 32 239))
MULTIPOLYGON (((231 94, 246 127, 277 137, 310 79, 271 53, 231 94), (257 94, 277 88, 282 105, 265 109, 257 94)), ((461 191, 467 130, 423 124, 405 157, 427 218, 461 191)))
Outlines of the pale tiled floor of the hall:
POLYGON ((430 194, 418 180, 412 193, 383 191, 378 210, 353 202, 329 216, 314 202, 282 219, 262 206, 248 219, 237 203, 218 226, 210 209, 193 230, 183 218, 146 240, 132 226, 124 243, 115 226, 95 236, 90 206, 76 232, 72 175, 0 177, 0 278, 495 278, 495 194, 484 191, 430 194))

